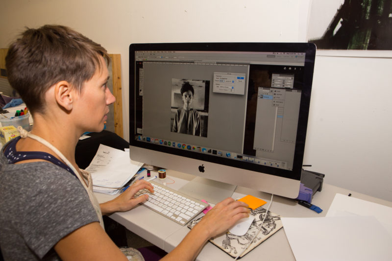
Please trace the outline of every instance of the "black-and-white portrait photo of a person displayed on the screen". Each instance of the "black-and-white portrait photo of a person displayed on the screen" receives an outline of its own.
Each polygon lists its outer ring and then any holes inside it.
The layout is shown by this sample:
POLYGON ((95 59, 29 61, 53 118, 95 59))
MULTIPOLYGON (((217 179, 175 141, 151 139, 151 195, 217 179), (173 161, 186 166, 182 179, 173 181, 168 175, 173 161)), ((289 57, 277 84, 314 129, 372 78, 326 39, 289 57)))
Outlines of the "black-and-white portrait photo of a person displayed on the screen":
POLYGON ((207 137, 209 81, 172 79, 171 131, 207 137))

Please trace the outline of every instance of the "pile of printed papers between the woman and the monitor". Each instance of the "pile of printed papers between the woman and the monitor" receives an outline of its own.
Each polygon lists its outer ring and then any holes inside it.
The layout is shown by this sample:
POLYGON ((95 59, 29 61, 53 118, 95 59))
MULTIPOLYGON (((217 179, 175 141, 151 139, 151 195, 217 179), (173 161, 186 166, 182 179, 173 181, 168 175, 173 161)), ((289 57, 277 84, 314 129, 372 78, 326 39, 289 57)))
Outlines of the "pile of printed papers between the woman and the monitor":
POLYGON ((129 151, 99 144, 97 154, 86 168, 93 177, 95 192, 116 194, 143 163, 131 161, 129 151))

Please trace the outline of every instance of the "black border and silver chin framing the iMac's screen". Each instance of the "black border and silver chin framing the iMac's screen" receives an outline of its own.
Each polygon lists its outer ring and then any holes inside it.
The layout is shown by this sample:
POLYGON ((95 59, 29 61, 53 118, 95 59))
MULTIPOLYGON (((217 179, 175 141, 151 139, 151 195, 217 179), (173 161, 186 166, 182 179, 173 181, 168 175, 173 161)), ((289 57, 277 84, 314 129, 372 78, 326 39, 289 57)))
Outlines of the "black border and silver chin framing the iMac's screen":
POLYGON ((201 178, 264 191, 289 198, 299 192, 302 161, 304 155, 310 94, 313 79, 316 46, 309 43, 169 43, 131 44, 129 47, 129 130, 130 158, 152 166, 189 173, 201 178), (140 50, 221 50, 221 51, 275 51, 304 52, 304 85, 301 94, 300 112, 295 141, 294 166, 292 170, 269 166, 255 166, 249 162, 232 161, 212 155, 168 146, 147 143, 135 139, 135 51, 140 50), (199 170, 204 168, 204 172, 199 170))

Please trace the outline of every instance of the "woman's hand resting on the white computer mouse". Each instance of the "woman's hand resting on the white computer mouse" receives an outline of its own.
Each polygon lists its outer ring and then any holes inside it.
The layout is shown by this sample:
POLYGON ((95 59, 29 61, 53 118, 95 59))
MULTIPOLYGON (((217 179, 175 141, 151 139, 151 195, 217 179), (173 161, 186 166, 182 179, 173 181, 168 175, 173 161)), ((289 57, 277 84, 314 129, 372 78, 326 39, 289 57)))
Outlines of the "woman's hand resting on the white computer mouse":
POLYGON ((199 222, 210 233, 210 237, 215 237, 224 233, 229 227, 241 218, 249 216, 248 205, 232 198, 226 198, 212 208, 199 222))

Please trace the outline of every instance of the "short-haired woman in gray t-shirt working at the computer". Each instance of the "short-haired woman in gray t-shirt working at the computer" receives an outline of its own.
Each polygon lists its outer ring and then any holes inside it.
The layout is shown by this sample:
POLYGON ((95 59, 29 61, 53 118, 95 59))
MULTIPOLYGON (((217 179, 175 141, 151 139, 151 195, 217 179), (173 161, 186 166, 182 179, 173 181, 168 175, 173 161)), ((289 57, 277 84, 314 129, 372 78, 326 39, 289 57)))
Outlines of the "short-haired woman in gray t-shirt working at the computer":
MULTIPOLYGON (((0 153, 0 246, 5 260, 127 260, 106 235, 102 214, 131 210, 153 187, 138 181, 98 204, 91 175, 78 168, 75 146, 99 132, 115 101, 106 86, 106 50, 72 29, 27 29, 6 57, 8 80, 25 101, 31 133, 0 153)), ((164 259, 193 260, 204 243, 248 216, 246 204, 217 204, 164 259)))

